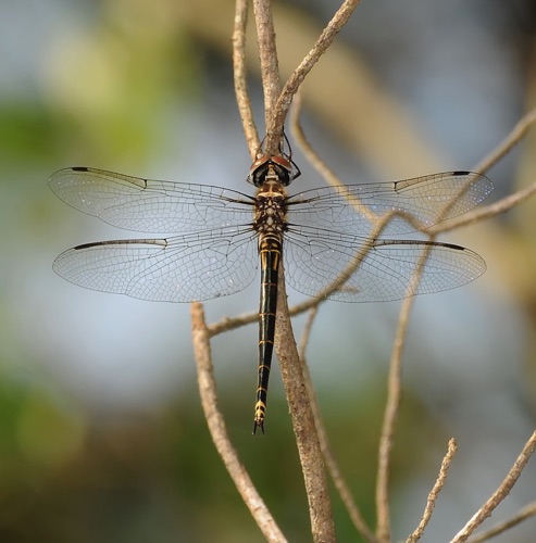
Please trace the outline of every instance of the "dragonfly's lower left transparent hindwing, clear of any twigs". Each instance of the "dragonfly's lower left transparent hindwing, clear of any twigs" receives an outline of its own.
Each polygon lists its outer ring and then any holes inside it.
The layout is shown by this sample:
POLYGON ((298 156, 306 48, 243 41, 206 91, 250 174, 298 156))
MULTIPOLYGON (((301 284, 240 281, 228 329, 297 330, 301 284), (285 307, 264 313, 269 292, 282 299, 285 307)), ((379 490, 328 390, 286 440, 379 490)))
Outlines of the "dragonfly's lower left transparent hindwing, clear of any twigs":
POLYGON ((242 290, 257 265, 252 230, 229 227, 169 239, 87 243, 62 253, 53 268, 87 289, 153 302, 192 302, 242 290))

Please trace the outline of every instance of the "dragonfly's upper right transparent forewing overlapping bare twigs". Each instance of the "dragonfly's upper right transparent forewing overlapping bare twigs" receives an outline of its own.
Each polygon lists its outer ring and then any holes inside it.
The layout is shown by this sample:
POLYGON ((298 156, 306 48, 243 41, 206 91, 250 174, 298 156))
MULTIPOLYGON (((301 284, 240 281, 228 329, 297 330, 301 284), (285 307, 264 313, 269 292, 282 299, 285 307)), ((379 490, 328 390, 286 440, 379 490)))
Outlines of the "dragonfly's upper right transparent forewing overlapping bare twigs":
MULTIPOLYGON (((291 224, 366 236, 382 215, 406 212, 423 228, 461 215, 478 205, 493 190, 491 181, 474 172, 448 172, 392 182, 324 187, 287 200, 291 224), (359 210, 354 205, 361 206, 359 210)), ((402 218, 394 218, 384 236, 414 231, 402 218)))

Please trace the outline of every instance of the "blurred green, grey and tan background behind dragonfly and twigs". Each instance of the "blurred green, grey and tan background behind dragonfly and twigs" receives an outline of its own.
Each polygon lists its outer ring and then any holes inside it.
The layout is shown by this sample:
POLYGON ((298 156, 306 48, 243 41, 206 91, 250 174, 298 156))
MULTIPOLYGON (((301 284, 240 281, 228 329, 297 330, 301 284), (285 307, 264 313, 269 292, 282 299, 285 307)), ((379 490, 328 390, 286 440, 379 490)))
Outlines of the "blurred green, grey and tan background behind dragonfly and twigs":
MULTIPOLYGON (((285 76, 337 7, 275 4, 285 76)), ((62 167, 251 189, 233 2, 23 0, 3 2, 0 15, 0 540, 262 541, 208 434, 188 305, 86 291, 51 268, 70 247, 128 237, 54 197, 47 180, 62 167)), ((471 168, 536 105, 535 23, 528 0, 363 1, 307 80, 309 139, 346 182, 471 168)), ((262 132, 253 34, 249 45, 262 132)), ((536 179, 534 134, 488 173, 489 202, 536 179)), ((294 151, 296 184, 321 185, 294 151)), ((450 437, 458 456, 423 541, 453 536, 535 427, 535 206, 445 237, 488 270, 416 301, 394 453, 397 540, 419 523, 450 437)), ((208 302, 209 321, 255 311, 258 289, 208 302)), ((371 523, 399 308, 326 303, 308 351, 335 454, 371 523)), ((309 541, 278 371, 266 434, 253 439, 257 328, 212 348, 240 457, 289 540, 309 541)), ((533 459, 486 526, 535 498, 535 476, 533 459)), ((340 541, 360 541, 337 498, 334 514, 340 541)), ((534 541, 535 527, 498 540, 534 541)))

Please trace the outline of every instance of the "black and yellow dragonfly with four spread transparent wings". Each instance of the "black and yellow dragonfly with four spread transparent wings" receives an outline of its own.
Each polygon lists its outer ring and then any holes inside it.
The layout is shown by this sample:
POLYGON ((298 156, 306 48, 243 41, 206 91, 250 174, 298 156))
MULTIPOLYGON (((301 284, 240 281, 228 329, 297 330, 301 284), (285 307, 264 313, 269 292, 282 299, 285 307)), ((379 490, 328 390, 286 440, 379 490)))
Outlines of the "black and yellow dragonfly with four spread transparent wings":
POLYGON ((61 169, 49 180, 72 207, 122 229, 159 236, 84 243, 63 252, 53 269, 80 287, 153 302, 205 301, 245 289, 260 264, 253 434, 259 428, 264 433, 282 258, 292 289, 340 302, 440 292, 486 269, 478 254, 461 245, 402 237, 426 232, 478 205, 493 190, 484 175, 448 172, 288 195, 300 171, 289 149, 279 151, 258 153, 247 177, 254 195, 91 167, 61 169), (373 236, 381 224, 381 235, 373 236), (357 255, 359 266, 352 269, 357 255), (410 289, 417 269, 420 281, 410 289), (345 273, 344 285, 326 291, 345 273))

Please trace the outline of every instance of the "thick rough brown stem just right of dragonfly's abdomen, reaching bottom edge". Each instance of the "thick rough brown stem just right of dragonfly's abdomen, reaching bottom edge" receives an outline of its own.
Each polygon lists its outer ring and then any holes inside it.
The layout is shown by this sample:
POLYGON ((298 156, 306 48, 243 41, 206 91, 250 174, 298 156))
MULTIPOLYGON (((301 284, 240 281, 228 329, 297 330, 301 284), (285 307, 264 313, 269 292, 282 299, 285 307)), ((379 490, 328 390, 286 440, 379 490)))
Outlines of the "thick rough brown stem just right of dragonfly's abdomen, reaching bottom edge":
POLYGON ((327 477, 313 412, 308 397, 303 368, 298 356, 288 315, 283 263, 279 267, 279 288, 277 291, 275 348, 306 484, 313 541, 335 541, 335 525, 327 477))

